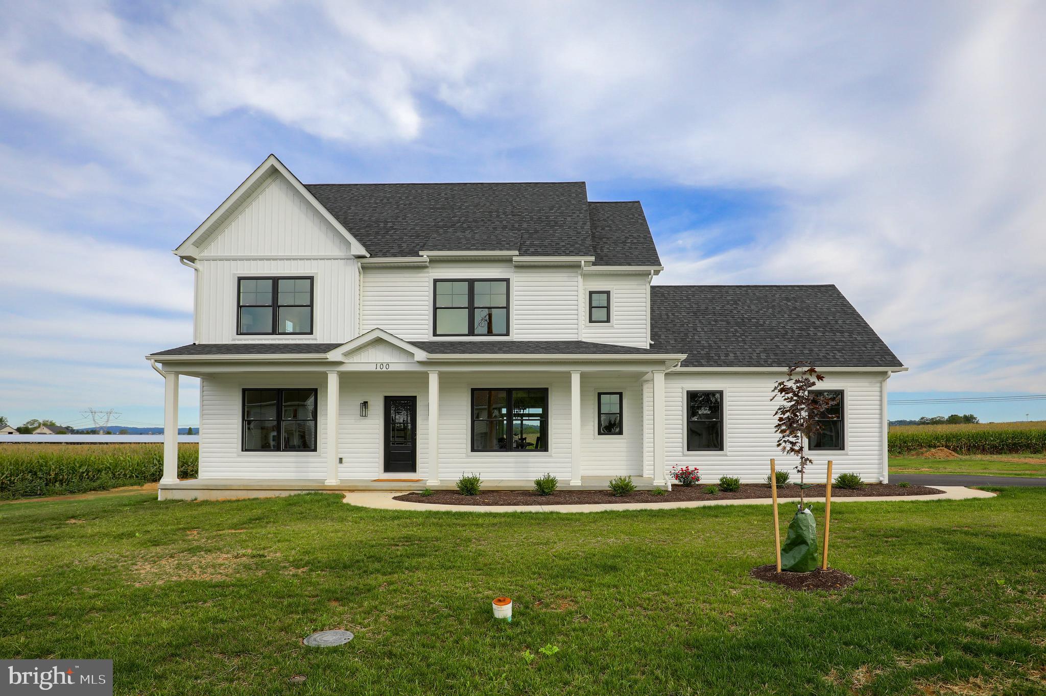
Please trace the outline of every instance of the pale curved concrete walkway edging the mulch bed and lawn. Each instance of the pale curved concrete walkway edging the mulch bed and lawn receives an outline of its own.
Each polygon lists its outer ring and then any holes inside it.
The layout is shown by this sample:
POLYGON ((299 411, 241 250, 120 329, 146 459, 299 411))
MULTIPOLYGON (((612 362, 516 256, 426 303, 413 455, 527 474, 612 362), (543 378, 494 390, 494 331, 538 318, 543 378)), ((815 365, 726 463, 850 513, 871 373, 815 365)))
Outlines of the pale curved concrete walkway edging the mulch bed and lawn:
MULTIPOLYGON (((905 495, 868 497, 833 497, 838 503, 880 503, 909 501, 964 501, 974 497, 995 497, 995 493, 983 490, 973 490, 962 486, 937 486, 943 493, 934 495, 905 495)), ((677 503, 602 503, 591 505, 433 505, 429 503, 410 503, 392 500, 403 495, 402 491, 349 491, 345 493, 344 503, 358 505, 362 508, 380 510, 425 510, 427 512, 602 512, 606 510, 667 510, 670 508, 702 508, 711 505, 770 505, 770 498, 756 497, 741 501, 682 501, 677 503)), ((823 503, 823 497, 808 497, 810 503, 823 503)), ((778 503, 798 503, 798 497, 779 497, 778 503)))

